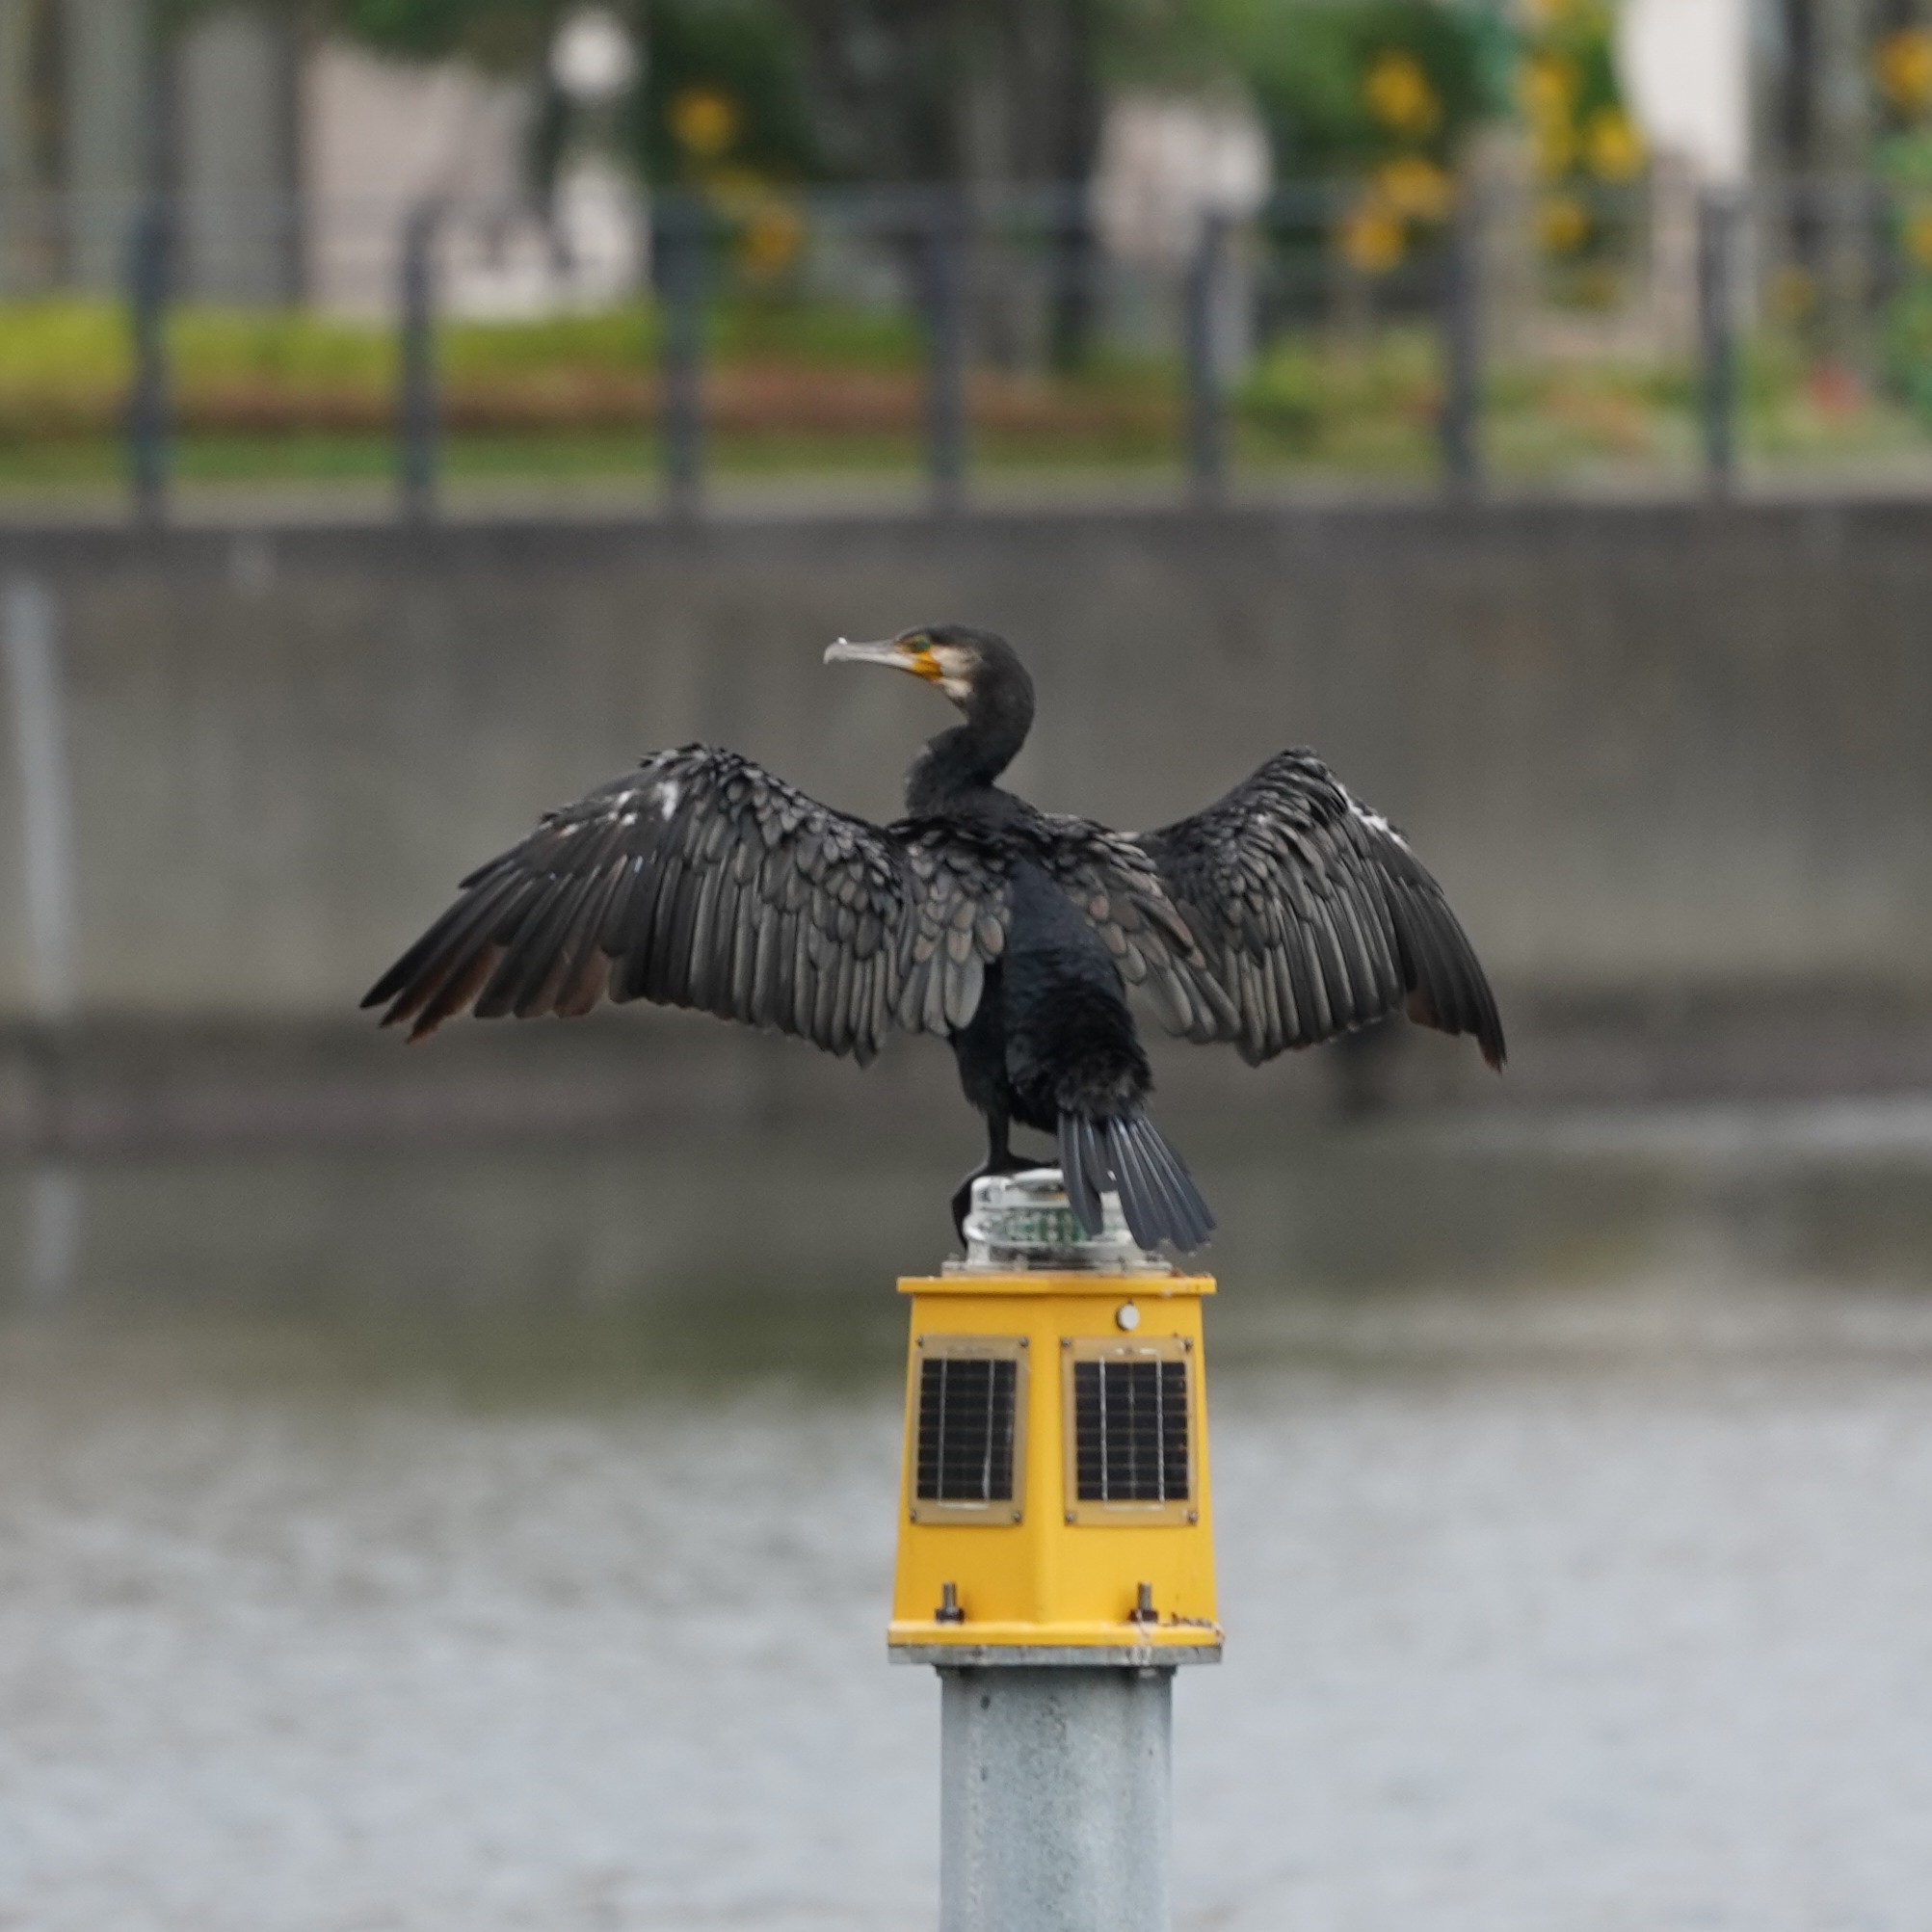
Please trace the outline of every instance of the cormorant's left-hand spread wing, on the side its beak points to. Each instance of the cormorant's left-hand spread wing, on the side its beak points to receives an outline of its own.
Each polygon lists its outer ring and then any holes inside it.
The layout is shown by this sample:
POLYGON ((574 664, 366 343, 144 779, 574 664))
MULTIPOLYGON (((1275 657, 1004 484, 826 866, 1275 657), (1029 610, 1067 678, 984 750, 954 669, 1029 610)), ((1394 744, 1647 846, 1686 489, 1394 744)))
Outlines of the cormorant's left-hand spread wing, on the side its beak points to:
MULTIPOLYGON (((529 1018, 651 999, 867 1061, 933 896, 891 833, 736 752, 684 746, 477 867, 363 1005, 413 1022, 413 1039, 469 1007, 529 1018)), ((956 896, 939 896, 949 920, 956 896)), ((978 981, 964 991, 943 981, 935 1030, 972 1016, 978 981)))

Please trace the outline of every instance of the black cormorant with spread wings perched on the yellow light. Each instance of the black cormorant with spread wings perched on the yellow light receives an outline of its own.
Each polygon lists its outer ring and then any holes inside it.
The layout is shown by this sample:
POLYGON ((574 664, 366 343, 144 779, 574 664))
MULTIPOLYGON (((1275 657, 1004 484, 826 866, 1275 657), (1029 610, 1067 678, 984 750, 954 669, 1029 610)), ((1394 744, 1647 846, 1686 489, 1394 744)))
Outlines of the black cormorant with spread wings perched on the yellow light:
POLYGON ((910 670, 964 713, 912 761, 906 817, 833 811, 736 752, 657 752, 469 873, 363 1005, 421 1039, 464 1009, 651 999, 860 1063, 893 1026, 943 1034, 987 1121, 980 1173, 1036 1165, 1009 1146, 1014 1121, 1053 1134, 1090 1233, 1113 1188, 1144 1248, 1182 1252, 1213 1217, 1148 1121, 1128 987, 1250 1065, 1399 1007, 1503 1065, 1441 887, 1314 752, 1279 752, 1194 817, 1115 833, 995 782, 1034 723, 1005 638, 935 624, 825 659, 910 670))

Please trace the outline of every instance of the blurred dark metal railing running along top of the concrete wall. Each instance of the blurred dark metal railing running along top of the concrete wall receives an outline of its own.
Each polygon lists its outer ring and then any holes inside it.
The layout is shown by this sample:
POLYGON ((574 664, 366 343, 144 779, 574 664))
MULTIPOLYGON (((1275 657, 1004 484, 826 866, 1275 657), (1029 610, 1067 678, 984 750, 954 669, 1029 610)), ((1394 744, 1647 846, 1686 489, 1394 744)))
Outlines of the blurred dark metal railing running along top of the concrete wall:
POLYGON ((112 437, 145 522, 197 439, 298 433, 386 448, 410 520, 464 452, 497 437, 514 471, 535 435, 603 439, 680 516, 746 464, 871 466, 941 514, 1026 464, 1202 504, 1310 475, 1721 495, 1926 460, 1932 481, 1932 197, 1876 182, 1490 182, 1406 209, 1335 184, 1242 214, 916 189, 0 203, 0 330, 89 280, 126 315, 118 402, 62 415, 31 359, 0 369, 0 456, 31 483, 37 439, 112 437), (296 354, 274 330, 303 317, 296 354))

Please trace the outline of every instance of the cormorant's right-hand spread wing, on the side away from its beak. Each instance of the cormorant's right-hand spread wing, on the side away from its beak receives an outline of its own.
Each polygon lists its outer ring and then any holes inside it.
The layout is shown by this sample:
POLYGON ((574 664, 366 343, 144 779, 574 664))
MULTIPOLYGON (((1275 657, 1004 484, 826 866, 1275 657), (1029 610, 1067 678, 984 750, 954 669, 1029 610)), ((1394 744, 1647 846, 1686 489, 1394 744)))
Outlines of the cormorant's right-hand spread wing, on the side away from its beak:
POLYGON ((1235 1039, 1246 1061, 1405 1007, 1424 1026, 1474 1034, 1501 1066, 1495 999, 1441 887, 1312 752, 1277 753, 1138 844, 1235 1009, 1211 1037, 1235 1039))

